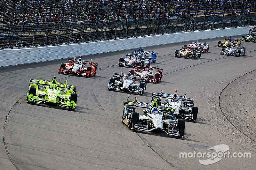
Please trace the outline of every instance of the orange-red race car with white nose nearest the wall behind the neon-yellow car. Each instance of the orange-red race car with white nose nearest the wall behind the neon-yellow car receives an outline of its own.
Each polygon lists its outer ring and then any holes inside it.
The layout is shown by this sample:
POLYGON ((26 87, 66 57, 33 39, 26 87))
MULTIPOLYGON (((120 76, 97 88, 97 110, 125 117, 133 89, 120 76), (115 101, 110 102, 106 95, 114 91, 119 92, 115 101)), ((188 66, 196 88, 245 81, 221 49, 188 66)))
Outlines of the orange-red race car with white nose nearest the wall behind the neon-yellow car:
POLYGON ((92 63, 92 60, 84 61, 82 60, 82 57, 79 57, 78 60, 76 60, 76 57, 74 57, 74 60, 68 59, 68 62, 66 64, 62 63, 59 68, 59 72, 61 74, 69 73, 85 77, 91 77, 96 75, 97 67, 98 63, 92 63))

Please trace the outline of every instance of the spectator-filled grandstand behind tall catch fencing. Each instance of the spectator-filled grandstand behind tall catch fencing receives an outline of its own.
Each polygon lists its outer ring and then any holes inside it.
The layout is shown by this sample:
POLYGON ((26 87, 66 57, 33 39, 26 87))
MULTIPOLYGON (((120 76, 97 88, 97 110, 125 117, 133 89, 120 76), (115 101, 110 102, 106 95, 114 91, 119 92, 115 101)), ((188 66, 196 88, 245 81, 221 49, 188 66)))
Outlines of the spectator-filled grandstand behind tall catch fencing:
POLYGON ((0 48, 256 24, 256 0, 0 0, 0 48))

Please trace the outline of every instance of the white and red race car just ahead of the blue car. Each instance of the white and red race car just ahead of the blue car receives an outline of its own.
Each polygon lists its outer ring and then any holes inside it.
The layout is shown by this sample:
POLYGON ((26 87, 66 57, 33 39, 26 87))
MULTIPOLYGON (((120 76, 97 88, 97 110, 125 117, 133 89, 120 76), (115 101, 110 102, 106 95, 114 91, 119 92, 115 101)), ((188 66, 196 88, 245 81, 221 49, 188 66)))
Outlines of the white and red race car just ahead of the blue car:
POLYGON ((129 67, 150 65, 150 59, 150 57, 139 55, 137 53, 127 54, 124 58, 119 59, 118 65, 129 67))

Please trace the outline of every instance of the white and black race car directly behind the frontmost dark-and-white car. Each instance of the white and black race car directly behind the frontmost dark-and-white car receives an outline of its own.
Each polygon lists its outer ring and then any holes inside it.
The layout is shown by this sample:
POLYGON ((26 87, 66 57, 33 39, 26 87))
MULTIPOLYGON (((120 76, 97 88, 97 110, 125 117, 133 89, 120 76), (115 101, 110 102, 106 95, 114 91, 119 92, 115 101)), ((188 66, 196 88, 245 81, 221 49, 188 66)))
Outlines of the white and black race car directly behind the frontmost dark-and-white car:
POLYGON ((184 96, 178 96, 177 92, 175 90, 173 94, 164 94, 162 91, 161 93, 152 93, 151 102, 155 100, 161 101, 162 98, 167 98, 162 103, 164 112, 174 109, 175 115, 183 119, 196 121, 198 108, 195 107, 193 99, 186 98, 186 94, 184 96))

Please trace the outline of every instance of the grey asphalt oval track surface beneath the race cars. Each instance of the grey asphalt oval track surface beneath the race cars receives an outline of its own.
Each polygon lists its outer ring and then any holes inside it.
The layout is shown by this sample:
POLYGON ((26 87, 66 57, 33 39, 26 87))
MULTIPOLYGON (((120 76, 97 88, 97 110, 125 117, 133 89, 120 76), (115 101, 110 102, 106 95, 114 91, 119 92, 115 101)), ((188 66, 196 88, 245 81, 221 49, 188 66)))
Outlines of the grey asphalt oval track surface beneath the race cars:
POLYGON ((107 88, 114 72, 131 70, 117 63, 132 50, 84 56, 99 63, 91 78, 58 74, 67 59, 2 67, 0 169, 255 169, 256 43, 242 42, 246 55, 235 57, 219 54, 219 40, 201 40, 210 44, 210 51, 195 60, 174 57, 189 42, 144 48, 158 52, 152 66, 164 72, 163 80, 148 84, 143 95, 107 88), (76 110, 28 104, 29 79, 40 76, 76 85, 76 110), (184 138, 134 132, 121 122, 124 100, 149 102, 152 92, 161 90, 186 93, 199 108, 197 122, 186 121, 184 138), (203 153, 218 144, 227 144, 230 152, 251 152, 252 158, 201 165, 199 158, 179 157, 180 152, 203 153))

